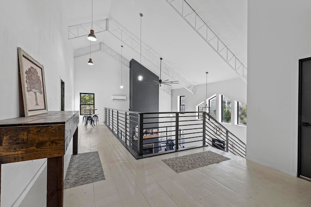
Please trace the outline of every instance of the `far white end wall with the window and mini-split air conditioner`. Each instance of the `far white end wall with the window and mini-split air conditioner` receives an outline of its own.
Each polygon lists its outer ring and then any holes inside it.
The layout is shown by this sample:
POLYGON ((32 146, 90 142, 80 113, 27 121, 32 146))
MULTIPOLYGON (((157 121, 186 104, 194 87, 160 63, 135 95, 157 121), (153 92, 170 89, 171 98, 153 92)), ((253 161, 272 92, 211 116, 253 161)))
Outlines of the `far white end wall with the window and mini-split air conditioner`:
MULTIPOLYGON (((89 56, 74 60, 74 110, 80 111, 80 93, 94 93, 99 121, 104 122, 104 107, 129 110, 129 69, 104 52, 92 54, 94 65, 88 65, 89 56), (112 95, 125 95, 126 100, 111 100, 112 95)), ((82 122, 83 116, 80 116, 82 122)))

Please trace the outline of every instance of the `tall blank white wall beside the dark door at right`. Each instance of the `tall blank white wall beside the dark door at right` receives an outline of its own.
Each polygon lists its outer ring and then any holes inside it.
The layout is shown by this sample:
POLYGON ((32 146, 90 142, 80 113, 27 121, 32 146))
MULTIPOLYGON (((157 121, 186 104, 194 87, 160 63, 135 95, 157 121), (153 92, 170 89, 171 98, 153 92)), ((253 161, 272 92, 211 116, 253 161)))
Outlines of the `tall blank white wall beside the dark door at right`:
POLYGON ((297 173, 297 56, 311 52, 310 8, 310 0, 248 0, 246 158, 290 175, 297 173))

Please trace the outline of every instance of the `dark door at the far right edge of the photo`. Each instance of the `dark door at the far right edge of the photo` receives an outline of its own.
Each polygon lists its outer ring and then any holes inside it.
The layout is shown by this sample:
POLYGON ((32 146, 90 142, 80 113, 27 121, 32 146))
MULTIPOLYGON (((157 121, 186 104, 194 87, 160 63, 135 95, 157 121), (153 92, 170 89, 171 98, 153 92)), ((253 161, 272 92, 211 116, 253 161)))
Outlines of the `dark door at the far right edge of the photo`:
POLYGON ((311 58, 299 60, 298 176, 311 178, 311 58))

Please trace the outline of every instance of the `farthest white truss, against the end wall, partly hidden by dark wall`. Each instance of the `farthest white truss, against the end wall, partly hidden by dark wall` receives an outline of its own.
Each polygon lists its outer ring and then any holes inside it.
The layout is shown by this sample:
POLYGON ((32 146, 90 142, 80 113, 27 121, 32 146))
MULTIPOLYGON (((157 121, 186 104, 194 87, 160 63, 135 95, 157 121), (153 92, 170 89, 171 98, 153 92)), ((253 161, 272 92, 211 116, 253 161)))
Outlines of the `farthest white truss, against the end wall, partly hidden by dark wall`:
MULTIPOLYGON (((99 52, 99 51, 106 53, 107 55, 109 55, 110 57, 118 61, 120 64, 122 63, 123 66, 125 66, 127 69, 130 69, 129 68, 130 62, 126 58, 122 57, 118 52, 116 52, 109 46, 105 45, 103 42, 92 45, 92 48, 91 48, 92 53, 99 52), (122 58, 122 62, 121 62, 121 58, 122 58)), ((88 56, 89 54, 90 54, 89 46, 74 50, 74 58, 88 56)), ((162 86, 159 88, 165 93, 172 96, 172 86, 162 84, 162 86)))

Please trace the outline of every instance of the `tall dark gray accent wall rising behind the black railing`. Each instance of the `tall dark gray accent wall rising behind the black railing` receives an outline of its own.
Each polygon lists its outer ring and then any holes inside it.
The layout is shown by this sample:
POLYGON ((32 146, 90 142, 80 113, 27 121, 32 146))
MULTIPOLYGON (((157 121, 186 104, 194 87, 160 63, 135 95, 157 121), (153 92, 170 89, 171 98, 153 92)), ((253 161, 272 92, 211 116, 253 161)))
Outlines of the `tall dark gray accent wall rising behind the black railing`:
POLYGON ((130 61, 130 111, 159 111, 159 86, 153 80, 158 81, 159 77, 136 60, 130 61), (142 81, 138 80, 139 75, 142 81))

